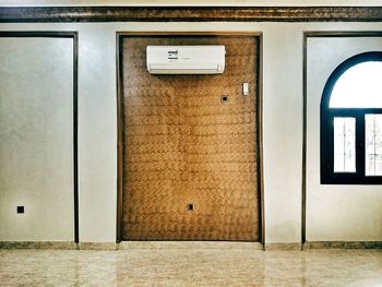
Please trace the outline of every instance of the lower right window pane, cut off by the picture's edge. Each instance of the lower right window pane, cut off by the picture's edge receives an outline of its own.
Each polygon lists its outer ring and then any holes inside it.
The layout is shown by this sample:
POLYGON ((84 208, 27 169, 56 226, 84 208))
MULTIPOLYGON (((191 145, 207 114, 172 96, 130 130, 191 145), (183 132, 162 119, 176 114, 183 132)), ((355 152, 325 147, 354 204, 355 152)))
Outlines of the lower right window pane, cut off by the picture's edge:
POLYGON ((382 115, 365 116, 366 176, 382 176, 382 115))

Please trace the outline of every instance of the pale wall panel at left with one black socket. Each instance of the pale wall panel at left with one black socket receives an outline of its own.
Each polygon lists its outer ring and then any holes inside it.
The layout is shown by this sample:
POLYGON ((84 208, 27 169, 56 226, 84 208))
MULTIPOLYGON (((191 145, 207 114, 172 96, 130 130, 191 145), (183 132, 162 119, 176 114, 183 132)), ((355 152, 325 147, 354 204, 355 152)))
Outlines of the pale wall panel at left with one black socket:
POLYGON ((73 240, 72 86, 72 39, 0 38, 0 241, 73 240))

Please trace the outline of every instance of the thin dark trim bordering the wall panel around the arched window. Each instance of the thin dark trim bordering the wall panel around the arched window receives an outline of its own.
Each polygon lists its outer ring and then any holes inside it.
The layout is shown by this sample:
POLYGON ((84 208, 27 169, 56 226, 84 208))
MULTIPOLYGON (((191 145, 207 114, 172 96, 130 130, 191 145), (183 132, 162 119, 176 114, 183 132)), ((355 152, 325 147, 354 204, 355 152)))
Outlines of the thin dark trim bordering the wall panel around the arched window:
MULTIPOLYGON (((307 80, 307 53, 308 47, 307 41, 310 37, 382 37, 382 31, 315 31, 305 32, 302 36, 302 181, 301 181, 301 243, 305 244, 307 241, 307 101, 308 101, 308 80, 307 80)), ((321 242, 321 241, 320 241, 321 242)), ((330 241, 331 242, 331 241, 330 241)), ((333 241, 344 242, 344 241, 333 241)), ((358 241, 368 242, 368 241, 358 241)), ((309 243, 310 244, 310 243, 309 243)), ((315 246, 315 243, 313 243, 315 246)))

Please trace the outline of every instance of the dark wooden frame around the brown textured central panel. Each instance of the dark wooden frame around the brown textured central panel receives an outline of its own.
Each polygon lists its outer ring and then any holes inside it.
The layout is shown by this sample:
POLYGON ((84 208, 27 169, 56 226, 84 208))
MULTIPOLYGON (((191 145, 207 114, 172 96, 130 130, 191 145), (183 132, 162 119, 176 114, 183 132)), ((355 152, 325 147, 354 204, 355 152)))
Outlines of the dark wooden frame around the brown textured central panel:
POLYGON ((122 118, 122 44, 129 36, 253 36, 259 39, 256 97, 256 190, 260 195, 260 243, 265 246, 264 180, 263 180, 263 34, 261 32, 117 32, 117 243, 122 240, 123 215, 123 118, 122 118))

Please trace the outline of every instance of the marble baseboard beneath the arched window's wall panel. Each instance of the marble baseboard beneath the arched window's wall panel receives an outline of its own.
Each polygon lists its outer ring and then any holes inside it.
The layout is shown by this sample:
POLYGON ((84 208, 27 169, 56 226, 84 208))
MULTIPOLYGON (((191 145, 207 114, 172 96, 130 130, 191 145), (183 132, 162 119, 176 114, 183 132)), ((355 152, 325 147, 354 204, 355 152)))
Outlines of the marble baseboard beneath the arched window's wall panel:
POLYGON ((307 241, 303 249, 382 249, 382 241, 307 241))

